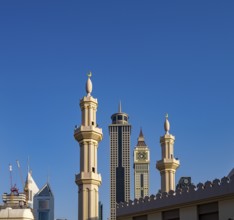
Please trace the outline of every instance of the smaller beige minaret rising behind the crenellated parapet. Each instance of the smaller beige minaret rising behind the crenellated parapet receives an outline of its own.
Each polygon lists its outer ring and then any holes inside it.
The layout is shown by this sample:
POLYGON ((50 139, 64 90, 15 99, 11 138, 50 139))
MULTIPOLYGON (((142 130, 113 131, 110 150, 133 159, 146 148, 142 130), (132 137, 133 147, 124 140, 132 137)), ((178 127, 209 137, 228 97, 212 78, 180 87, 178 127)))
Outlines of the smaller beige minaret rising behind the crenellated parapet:
POLYGON ((165 135, 160 137, 162 159, 157 161, 156 168, 161 174, 161 191, 175 190, 175 172, 180 166, 180 161, 174 157, 175 136, 169 134, 170 123, 166 115, 164 123, 165 135))

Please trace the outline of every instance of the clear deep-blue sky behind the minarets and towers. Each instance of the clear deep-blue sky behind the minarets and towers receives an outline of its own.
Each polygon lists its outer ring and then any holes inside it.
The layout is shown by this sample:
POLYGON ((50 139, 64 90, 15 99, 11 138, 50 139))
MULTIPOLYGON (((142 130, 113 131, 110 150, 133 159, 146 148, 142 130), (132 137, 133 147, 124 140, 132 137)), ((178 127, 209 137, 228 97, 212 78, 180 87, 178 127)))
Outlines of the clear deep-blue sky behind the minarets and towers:
MULTIPOLYGON (((49 174, 55 217, 77 219, 79 100, 93 72, 100 200, 109 216, 110 116, 118 102, 151 150, 150 193, 169 114, 181 176, 193 183, 222 178, 234 167, 234 1, 0 1, 0 194, 8 164, 22 189, 27 158, 41 188, 49 174)), ((132 156, 132 153, 131 153, 132 156)), ((132 157, 131 157, 132 163, 132 157)), ((131 164, 133 180, 133 169, 131 164)), ((133 181, 131 182, 133 198, 133 181)))

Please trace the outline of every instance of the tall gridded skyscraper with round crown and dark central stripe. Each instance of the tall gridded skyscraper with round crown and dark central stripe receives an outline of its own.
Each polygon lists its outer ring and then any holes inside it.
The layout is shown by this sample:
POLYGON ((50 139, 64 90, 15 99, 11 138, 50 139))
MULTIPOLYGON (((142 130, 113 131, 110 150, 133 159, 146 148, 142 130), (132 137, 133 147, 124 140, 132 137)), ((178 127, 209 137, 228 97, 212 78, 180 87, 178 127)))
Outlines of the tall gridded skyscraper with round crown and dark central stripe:
POLYGON ((130 135, 128 115, 121 110, 111 116, 110 134, 110 219, 116 219, 116 203, 130 199, 130 135))

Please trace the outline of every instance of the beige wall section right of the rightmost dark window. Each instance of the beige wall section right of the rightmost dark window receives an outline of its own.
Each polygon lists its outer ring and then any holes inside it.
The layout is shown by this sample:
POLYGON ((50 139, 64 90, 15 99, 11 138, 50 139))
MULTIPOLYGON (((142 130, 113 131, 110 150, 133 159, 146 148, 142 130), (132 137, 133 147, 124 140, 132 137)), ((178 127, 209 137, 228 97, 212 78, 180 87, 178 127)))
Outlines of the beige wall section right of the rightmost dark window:
POLYGON ((219 201, 219 219, 234 219, 234 198, 219 201))

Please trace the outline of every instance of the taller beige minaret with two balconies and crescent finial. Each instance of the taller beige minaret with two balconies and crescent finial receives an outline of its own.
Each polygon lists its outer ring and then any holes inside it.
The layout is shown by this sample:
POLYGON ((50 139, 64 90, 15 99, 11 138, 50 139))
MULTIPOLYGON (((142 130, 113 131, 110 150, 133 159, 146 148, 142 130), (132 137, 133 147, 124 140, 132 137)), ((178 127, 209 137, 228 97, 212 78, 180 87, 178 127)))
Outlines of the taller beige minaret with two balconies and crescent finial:
POLYGON ((91 96, 91 73, 86 83, 87 95, 80 100, 81 126, 75 129, 74 137, 80 145, 80 173, 75 182, 78 192, 78 220, 98 219, 98 188, 101 185, 101 175, 97 170, 97 148, 102 140, 102 129, 97 127, 97 99, 91 96))

